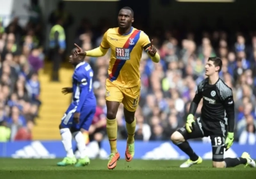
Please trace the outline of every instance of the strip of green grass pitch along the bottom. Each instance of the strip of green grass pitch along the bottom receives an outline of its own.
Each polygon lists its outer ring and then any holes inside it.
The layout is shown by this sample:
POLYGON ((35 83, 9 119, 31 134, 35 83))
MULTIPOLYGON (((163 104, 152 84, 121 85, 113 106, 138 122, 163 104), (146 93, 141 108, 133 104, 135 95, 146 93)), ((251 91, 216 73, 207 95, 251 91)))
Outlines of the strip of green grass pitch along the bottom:
POLYGON ((60 159, 0 159, 0 178, 26 178, 26 179, 210 179, 210 178, 256 178, 256 168, 243 165, 234 168, 214 169, 210 160, 198 166, 186 169, 179 168, 181 160, 132 160, 126 162, 119 160, 114 170, 107 168, 107 160, 92 160, 89 166, 85 167, 58 167, 56 163, 60 159))

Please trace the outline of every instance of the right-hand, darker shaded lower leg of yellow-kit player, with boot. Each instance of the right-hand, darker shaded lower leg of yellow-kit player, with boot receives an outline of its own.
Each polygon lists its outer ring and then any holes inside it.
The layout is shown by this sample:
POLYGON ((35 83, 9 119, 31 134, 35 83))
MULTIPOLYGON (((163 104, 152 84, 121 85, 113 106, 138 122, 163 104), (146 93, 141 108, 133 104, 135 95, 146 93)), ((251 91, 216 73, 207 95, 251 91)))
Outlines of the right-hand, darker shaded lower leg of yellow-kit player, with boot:
POLYGON ((125 150, 125 160, 130 162, 134 157, 134 133, 136 129, 135 111, 131 112, 124 108, 124 116, 127 128, 127 146, 125 150))

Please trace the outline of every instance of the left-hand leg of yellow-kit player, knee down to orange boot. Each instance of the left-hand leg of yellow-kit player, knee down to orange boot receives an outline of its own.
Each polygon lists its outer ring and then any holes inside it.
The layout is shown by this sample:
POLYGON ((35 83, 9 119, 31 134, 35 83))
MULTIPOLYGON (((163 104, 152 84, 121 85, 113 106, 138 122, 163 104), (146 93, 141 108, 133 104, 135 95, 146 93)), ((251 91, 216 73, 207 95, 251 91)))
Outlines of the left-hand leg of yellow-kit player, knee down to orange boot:
POLYGON ((111 153, 109 155, 108 169, 114 169, 116 167, 116 162, 120 158, 119 153, 116 149, 116 137, 117 137, 117 123, 116 123, 116 113, 120 102, 106 101, 107 104, 107 134, 109 139, 109 144, 111 148, 111 153))

